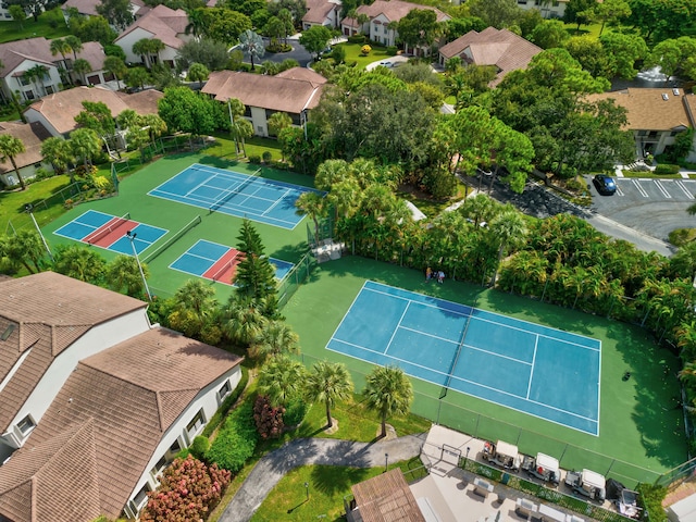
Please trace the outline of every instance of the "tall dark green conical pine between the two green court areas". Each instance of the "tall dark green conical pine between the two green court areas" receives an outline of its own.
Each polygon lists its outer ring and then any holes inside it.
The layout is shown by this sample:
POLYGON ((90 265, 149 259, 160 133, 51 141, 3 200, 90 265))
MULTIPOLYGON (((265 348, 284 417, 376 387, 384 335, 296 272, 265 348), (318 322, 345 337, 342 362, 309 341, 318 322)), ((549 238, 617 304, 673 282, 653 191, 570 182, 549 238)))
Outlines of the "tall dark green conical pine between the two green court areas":
POLYGON ((237 295, 256 301, 258 309, 270 319, 279 319, 275 269, 265 256, 261 236, 249 220, 244 220, 237 249, 245 258, 237 265, 237 295))

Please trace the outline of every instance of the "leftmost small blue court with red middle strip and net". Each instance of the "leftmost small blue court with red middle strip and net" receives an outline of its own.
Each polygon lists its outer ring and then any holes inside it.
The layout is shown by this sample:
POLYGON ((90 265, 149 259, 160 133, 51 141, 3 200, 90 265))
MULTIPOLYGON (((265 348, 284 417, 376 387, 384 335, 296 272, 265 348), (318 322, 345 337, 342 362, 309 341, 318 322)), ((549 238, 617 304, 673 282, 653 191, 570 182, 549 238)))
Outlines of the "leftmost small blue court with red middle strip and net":
POLYGON ((130 239, 126 236, 126 232, 130 232, 135 236, 133 244, 138 254, 140 254, 169 231, 133 221, 130 220, 130 214, 115 216, 96 210, 88 210, 61 226, 53 234, 105 248, 107 250, 125 253, 126 256, 133 256, 133 247, 130 246, 130 239))

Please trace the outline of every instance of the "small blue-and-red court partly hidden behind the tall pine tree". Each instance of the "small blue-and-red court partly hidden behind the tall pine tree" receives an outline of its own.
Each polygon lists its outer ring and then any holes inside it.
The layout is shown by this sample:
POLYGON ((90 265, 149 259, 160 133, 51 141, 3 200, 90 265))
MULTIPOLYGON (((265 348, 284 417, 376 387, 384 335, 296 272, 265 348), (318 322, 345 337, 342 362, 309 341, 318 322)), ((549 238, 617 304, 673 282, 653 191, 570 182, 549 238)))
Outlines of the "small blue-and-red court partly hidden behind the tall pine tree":
MULTIPOLYGON (((199 239, 170 264, 170 269, 231 285, 241 258, 244 252, 235 248, 199 239)), ((269 258, 269 261, 275 269, 275 278, 278 281, 283 281, 295 266, 279 259, 269 258)))

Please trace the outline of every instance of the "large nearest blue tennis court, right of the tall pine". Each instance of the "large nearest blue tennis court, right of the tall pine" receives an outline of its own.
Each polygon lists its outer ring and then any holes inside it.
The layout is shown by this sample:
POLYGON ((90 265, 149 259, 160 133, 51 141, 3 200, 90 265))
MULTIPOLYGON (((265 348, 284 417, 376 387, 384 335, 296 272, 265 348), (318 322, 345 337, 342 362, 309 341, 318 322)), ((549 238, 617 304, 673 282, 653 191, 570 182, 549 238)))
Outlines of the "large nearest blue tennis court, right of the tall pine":
POLYGON ((597 339, 368 281, 326 348, 599 435, 597 339))

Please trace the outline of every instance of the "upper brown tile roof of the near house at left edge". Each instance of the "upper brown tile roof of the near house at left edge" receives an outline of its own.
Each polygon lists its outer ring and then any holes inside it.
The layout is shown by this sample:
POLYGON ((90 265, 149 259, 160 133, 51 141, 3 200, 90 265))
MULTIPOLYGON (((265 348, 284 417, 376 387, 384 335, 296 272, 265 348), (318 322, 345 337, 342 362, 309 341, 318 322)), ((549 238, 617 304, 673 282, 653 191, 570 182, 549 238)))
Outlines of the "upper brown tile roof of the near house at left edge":
POLYGON ((34 387, 65 348, 89 331, 147 304, 53 272, 0 281, 0 382, 30 349, 0 390, 0 432, 4 432, 34 387), (96 304, 97 303, 97 304, 96 304))

